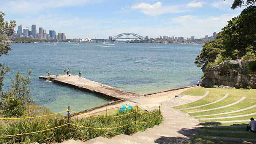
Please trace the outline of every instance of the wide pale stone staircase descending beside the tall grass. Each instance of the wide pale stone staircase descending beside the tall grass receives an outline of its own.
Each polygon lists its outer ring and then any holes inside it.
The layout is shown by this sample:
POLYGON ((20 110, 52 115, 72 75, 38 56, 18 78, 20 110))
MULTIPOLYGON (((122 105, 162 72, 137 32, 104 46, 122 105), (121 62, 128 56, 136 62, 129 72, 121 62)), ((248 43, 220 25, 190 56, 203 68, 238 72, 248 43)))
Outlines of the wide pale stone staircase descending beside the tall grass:
POLYGON ((159 126, 147 128, 145 131, 133 135, 120 134, 114 138, 97 137, 95 139, 81 142, 69 140, 61 144, 182 144, 191 143, 191 136, 196 136, 199 121, 180 110, 171 108, 170 101, 162 103, 163 121, 159 126))

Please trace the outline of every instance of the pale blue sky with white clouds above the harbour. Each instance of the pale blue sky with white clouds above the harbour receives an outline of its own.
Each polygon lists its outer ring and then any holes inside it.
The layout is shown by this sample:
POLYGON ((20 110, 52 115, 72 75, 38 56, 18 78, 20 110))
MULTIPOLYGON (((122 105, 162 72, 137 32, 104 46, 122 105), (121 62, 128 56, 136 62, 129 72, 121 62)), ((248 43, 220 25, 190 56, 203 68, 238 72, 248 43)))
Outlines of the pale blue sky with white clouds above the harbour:
MULTIPOLYGON (((217 33, 242 9, 233 0, 0 0, 5 21, 43 27, 67 39, 105 39, 131 32, 143 37, 204 38, 217 33)), ((15 30, 17 30, 17 26, 15 30)))

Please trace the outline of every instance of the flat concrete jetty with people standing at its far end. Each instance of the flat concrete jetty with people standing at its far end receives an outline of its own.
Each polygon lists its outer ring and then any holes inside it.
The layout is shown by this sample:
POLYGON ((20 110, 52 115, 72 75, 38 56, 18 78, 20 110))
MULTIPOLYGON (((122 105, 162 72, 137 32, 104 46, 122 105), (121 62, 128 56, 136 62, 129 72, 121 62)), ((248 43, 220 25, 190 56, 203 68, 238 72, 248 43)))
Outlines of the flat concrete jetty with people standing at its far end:
POLYGON ((50 75, 50 76, 39 76, 44 80, 49 80, 61 85, 70 86, 76 89, 80 89, 86 92, 94 93, 100 97, 108 100, 121 100, 139 97, 141 95, 133 92, 127 92, 125 90, 117 89, 108 85, 97 83, 94 81, 87 80, 86 78, 79 78, 78 75, 50 75))

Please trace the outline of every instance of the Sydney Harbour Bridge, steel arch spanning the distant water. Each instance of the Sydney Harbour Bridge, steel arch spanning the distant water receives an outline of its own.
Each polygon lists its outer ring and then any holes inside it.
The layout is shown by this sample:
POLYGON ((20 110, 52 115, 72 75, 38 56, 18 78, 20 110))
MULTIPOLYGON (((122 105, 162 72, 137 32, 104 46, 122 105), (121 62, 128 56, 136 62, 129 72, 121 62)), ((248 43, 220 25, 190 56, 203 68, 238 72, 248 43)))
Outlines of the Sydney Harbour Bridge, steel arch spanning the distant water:
POLYGON ((114 42, 115 40, 119 40, 119 39, 147 40, 148 36, 142 37, 141 35, 136 34, 136 33, 121 33, 121 34, 118 34, 118 35, 116 35, 114 37, 109 36, 108 39, 91 39, 91 40, 95 40, 95 41, 108 40, 109 42, 114 42))

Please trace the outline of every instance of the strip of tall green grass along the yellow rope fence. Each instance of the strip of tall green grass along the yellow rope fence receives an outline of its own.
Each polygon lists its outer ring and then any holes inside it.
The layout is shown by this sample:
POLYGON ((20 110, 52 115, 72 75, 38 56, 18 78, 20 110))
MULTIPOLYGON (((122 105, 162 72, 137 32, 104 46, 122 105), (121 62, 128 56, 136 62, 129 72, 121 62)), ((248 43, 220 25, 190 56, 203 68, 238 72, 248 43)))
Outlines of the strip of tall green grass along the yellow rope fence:
MULTIPOLYGON (((129 113, 129 112, 125 112, 129 113)), ((125 113, 116 113, 115 116, 122 115, 125 113)), ((151 121, 158 117, 158 112, 150 115, 136 114, 136 120, 140 122, 151 121)), ((113 118, 98 118, 98 117, 87 117, 83 119, 70 119, 71 124, 101 128, 101 129, 89 129, 83 127, 77 127, 74 125, 63 126, 53 130, 44 132, 0 137, 0 143, 53 143, 62 142, 68 139, 86 141, 89 139, 102 136, 111 138, 118 134, 132 134, 137 131, 144 131, 147 128, 152 128, 155 125, 159 125, 162 121, 162 116, 159 116, 156 120, 147 124, 133 123, 134 113, 113 118), (104 129, 113 128, 114 129, 104 129)), ((0 135, 12 135, 20 133, 29 133, 35 131, 41 131, 49 128, 54 128, 68 123, 68 118, 49 117, 48 119, 35 118, 35 119, 23 119, 23 120, 5 120, 2 125, 0 124, 0 135)))

